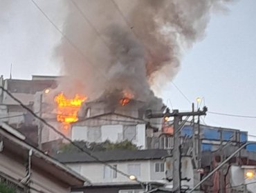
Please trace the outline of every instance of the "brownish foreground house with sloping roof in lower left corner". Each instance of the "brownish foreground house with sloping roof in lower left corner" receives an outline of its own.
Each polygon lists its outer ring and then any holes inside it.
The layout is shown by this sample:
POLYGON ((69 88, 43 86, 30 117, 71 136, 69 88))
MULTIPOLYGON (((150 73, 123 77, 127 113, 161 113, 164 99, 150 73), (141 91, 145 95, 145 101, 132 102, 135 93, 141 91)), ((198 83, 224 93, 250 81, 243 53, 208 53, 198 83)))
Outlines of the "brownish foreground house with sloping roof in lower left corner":
POLYGON ((26 143, 26 136, 0 127, 0 183, 18 193, 71 192, 85 177, 26 143))

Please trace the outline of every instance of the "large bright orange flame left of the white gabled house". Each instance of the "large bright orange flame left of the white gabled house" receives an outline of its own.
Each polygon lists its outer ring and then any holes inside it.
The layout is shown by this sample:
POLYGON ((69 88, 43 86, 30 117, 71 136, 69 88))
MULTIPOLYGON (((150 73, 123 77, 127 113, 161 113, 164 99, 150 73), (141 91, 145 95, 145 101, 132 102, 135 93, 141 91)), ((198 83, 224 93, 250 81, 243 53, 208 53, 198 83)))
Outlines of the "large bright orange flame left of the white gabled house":
POLYGON ((66 125, 78 120, 77 112, 80 110, 82 102, 86 100, 86 96, 75 94, 73 99, 67 99, 63 92, 55 96, 55 103, 57 103, 57 121, 66 125))

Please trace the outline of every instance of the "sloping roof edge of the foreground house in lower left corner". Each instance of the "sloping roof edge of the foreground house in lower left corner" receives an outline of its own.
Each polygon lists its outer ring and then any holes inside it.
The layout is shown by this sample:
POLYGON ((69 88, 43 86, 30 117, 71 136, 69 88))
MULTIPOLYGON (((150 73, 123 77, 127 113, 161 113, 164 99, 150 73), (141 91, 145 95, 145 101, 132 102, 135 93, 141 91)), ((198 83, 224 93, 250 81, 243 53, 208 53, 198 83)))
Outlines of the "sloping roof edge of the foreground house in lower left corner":
POLYGON ((48 172, 51 176, 55 176, 64 183, 68 185, 83 185, 84 182, 91 183, 63 163, 60 163, 51 156, 44 154, 44 152, 41 152, 37 150, 37 148, 26 143, 26 141, 24 141, 26 137, 17 132, 17 130, 1 125, 0 136, 3 140, 4 151, 10 151, 17 154, 17 156, 24 157, 24 155, 28 154, 29 150, 32 150, 32 164, 39 167, 41 170, 48 172))

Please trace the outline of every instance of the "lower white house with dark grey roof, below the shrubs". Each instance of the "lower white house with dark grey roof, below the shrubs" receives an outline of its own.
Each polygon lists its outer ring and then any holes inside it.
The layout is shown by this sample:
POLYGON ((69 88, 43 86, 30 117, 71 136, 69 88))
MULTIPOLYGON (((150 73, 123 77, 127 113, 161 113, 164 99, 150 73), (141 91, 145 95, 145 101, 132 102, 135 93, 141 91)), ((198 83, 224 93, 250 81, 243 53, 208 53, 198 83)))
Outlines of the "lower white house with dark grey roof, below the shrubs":
MULTIPOLYGON (((134 175, 139 181, 165 183, 166 150, 111 150, 93 152, 98 157, 125 174, 134 175)), ((134 183, 127 176, 116 172, 83 152, 63 152, 56 158, 77 173, 86 176, 93 185, 100 183, 134 183), (87 175, 90 174, 90 175, 87 175)))

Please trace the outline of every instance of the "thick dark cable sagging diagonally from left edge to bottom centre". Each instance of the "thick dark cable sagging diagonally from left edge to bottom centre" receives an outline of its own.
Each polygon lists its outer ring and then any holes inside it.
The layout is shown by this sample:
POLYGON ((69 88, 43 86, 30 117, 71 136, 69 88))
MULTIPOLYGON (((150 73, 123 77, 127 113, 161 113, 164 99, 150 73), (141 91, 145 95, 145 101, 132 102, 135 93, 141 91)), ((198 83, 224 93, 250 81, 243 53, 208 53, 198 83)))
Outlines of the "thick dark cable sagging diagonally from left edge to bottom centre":
MULTIPOLYGON (((6 92, 6 94, 8 94, 14 101, 16 101, 17 103, 19 103, 19 105, 21 105, 22 108, 28 110, 28 112, 30 112, 33 116, 35 116, 36 119, 38 119, 39 121, 41 121, 42 123, 44 123, 45 125, 47 125, 49 128, 51 128, 54 132, 56 132, 57 134, 59 134, 60 136, 62 136, 63 139, 66 139, 66 141, 68 141, 69 143, 71 143, 73 146, 75 146, 78 150, 84 152, 85 154, 91 156, 91 158, 95 159, 95 161, 98 161, 104 165, 107 165, 108 167, 110 167, 112 170, 115 170, 116 172, 118 172, 119 174, 122 174, 123 176, 126 176, 129 179, 129 174, 126 174, 125 172, 122 172, 118 169, 116 169, 116 167, 113 167, 112 165, 110 165, 107 162, 101 161, 100 159, 98 159, 97 156, 94 156, 92 154, 91 151, 86 151, 83 148, 81 148, 79 145, 77 145, 76 143, 74 143, 71 139, 69 139, 67 136, 65 136, 64 134, 62 134, 62 132, 60 132, 59 130, 55 129, 53 127, 53 125, 49 124, 45 119, 42 119, 40 116, 38 116, 37 114, 35 114, 35 112, 33 112, 33 110, 30 110, 30 108, 28 108, 26 105, 24 105, 24 103, 22 103, 21 101, 19 101, 19 99, 17 99, 15 96, 13 96, 8 90, 6 90, 5 88, 3 88, 2 86, 0 86, 0 88, 6 92)), ((143 182, 139 181, 138 179, 135 179, 136 182, 140 183, 140 185, 143 185, 143 182)))

